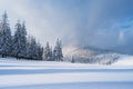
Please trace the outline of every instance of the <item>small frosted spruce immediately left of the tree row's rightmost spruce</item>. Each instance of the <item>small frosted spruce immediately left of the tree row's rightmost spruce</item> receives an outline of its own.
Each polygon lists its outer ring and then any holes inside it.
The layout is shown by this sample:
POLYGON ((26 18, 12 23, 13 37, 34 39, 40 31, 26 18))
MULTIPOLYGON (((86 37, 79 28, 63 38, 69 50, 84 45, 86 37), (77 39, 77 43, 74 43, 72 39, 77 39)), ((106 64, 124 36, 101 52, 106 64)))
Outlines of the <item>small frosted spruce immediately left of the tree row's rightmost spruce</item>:
POLYGON ((49 42, 47 42, 47 46, 44 48, 44 60, 52 61, 52 50, 49 46, 49 42))

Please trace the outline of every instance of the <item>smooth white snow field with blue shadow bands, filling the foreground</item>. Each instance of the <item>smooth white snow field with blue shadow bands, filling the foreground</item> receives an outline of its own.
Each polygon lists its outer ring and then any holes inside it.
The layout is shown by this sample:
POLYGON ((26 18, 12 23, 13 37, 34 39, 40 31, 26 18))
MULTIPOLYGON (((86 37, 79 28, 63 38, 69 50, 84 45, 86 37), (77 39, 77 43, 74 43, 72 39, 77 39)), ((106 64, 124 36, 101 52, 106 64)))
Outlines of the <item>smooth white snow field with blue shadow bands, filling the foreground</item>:
POLYGON ((112 66, 0 58, 0 89, 132 88, 133 57, 123 57, 112 66))

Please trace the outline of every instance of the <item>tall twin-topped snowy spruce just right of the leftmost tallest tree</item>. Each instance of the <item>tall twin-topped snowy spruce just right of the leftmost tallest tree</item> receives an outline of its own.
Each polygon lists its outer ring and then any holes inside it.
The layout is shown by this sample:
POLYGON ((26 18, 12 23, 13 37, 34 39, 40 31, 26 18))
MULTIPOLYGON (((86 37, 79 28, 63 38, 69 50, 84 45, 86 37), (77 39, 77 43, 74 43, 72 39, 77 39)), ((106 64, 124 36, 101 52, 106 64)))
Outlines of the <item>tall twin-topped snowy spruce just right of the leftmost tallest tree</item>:
POLYGON ((25 58, 27 56, 27 31, 24 22, 21 24, 20 21, 16 24, 16 32, 13 36, 12 55, 18 58, 25 58))

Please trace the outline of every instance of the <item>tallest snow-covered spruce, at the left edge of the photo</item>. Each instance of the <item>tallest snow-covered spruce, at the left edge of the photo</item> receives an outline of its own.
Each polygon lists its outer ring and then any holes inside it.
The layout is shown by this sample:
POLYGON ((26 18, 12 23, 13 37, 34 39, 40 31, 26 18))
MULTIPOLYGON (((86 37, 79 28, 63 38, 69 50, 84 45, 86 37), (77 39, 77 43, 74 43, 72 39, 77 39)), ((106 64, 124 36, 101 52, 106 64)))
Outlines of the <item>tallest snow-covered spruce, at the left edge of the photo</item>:
POLYGON ((0 53, 2 57, 10 56, 11 52, 11 30, 8 22, 7 12, 2 16, 2 20, 0 22, 0 53))

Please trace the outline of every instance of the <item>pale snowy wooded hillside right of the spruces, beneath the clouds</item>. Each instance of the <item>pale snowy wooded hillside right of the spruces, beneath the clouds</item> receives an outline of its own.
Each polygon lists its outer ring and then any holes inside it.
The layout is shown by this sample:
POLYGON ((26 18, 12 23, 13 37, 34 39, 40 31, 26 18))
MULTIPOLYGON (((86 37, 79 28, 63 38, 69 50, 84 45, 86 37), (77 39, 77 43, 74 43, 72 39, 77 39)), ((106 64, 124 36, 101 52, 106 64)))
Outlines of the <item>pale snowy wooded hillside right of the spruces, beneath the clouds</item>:
POLYGON ((110 50, 102 50, 94 47, 64 47, 64 61, 81 63, 102 63, 111 65, 115 62, 122 55, 110 50))

